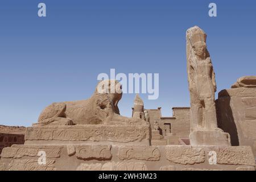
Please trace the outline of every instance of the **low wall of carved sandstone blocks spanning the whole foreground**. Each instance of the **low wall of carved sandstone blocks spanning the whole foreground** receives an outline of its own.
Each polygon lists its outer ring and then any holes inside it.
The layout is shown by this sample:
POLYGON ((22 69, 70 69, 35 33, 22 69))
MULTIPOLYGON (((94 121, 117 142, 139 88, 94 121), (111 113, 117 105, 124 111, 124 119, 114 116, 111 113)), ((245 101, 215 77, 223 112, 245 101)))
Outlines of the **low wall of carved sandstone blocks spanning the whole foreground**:
POLYGON ((0 170, 254 171, 255 161, 248 146, 13 145, 3 149, 0 170), (42 164, 40 151, 46 156, 42 164))

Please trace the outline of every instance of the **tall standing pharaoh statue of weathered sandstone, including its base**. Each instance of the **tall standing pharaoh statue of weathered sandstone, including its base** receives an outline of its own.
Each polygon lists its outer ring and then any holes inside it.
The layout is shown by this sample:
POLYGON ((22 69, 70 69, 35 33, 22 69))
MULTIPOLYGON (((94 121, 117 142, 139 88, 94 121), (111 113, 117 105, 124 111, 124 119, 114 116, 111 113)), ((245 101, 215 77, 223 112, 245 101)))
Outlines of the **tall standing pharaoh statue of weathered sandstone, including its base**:
POLYGON ((187 72, 191 98, 191 144, 229 145, 229 135, 217 127, 215 74, 206 46, 207 35, 195 26, 187 30, 187 72))

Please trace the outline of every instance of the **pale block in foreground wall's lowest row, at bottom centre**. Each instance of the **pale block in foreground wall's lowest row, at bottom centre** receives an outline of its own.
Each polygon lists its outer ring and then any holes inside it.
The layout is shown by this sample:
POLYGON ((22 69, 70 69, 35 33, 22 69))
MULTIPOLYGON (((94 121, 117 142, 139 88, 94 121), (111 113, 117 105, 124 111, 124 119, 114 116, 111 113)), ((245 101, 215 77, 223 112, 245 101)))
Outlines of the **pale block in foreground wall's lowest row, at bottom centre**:
POLYGON ((147 171, 145 163, 109 162, 102 166, 102 171, 147 171))

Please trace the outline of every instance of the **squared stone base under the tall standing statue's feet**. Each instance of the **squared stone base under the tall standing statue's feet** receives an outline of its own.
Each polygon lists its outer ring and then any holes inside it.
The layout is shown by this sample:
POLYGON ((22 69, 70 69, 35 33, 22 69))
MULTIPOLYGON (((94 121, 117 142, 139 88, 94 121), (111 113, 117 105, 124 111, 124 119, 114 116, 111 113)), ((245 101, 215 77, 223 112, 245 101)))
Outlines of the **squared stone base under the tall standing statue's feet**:
POLYGON ((223 131, 192 131, 189 140, 192 146, 231 146, 230 135, 223 131))

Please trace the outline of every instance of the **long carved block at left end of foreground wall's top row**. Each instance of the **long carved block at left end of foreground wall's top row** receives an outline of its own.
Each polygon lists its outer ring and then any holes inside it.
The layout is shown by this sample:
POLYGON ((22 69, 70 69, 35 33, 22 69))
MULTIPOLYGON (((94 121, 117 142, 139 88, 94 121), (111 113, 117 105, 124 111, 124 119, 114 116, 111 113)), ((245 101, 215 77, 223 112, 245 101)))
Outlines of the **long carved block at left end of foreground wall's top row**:
POLYGON ((61 146, 35 146, 35 145, 17 145, 3 148, 1 158, 22 158, 23 156, 38 156, 39 151, 46 152, 47 158, 59 158, 61 146))

